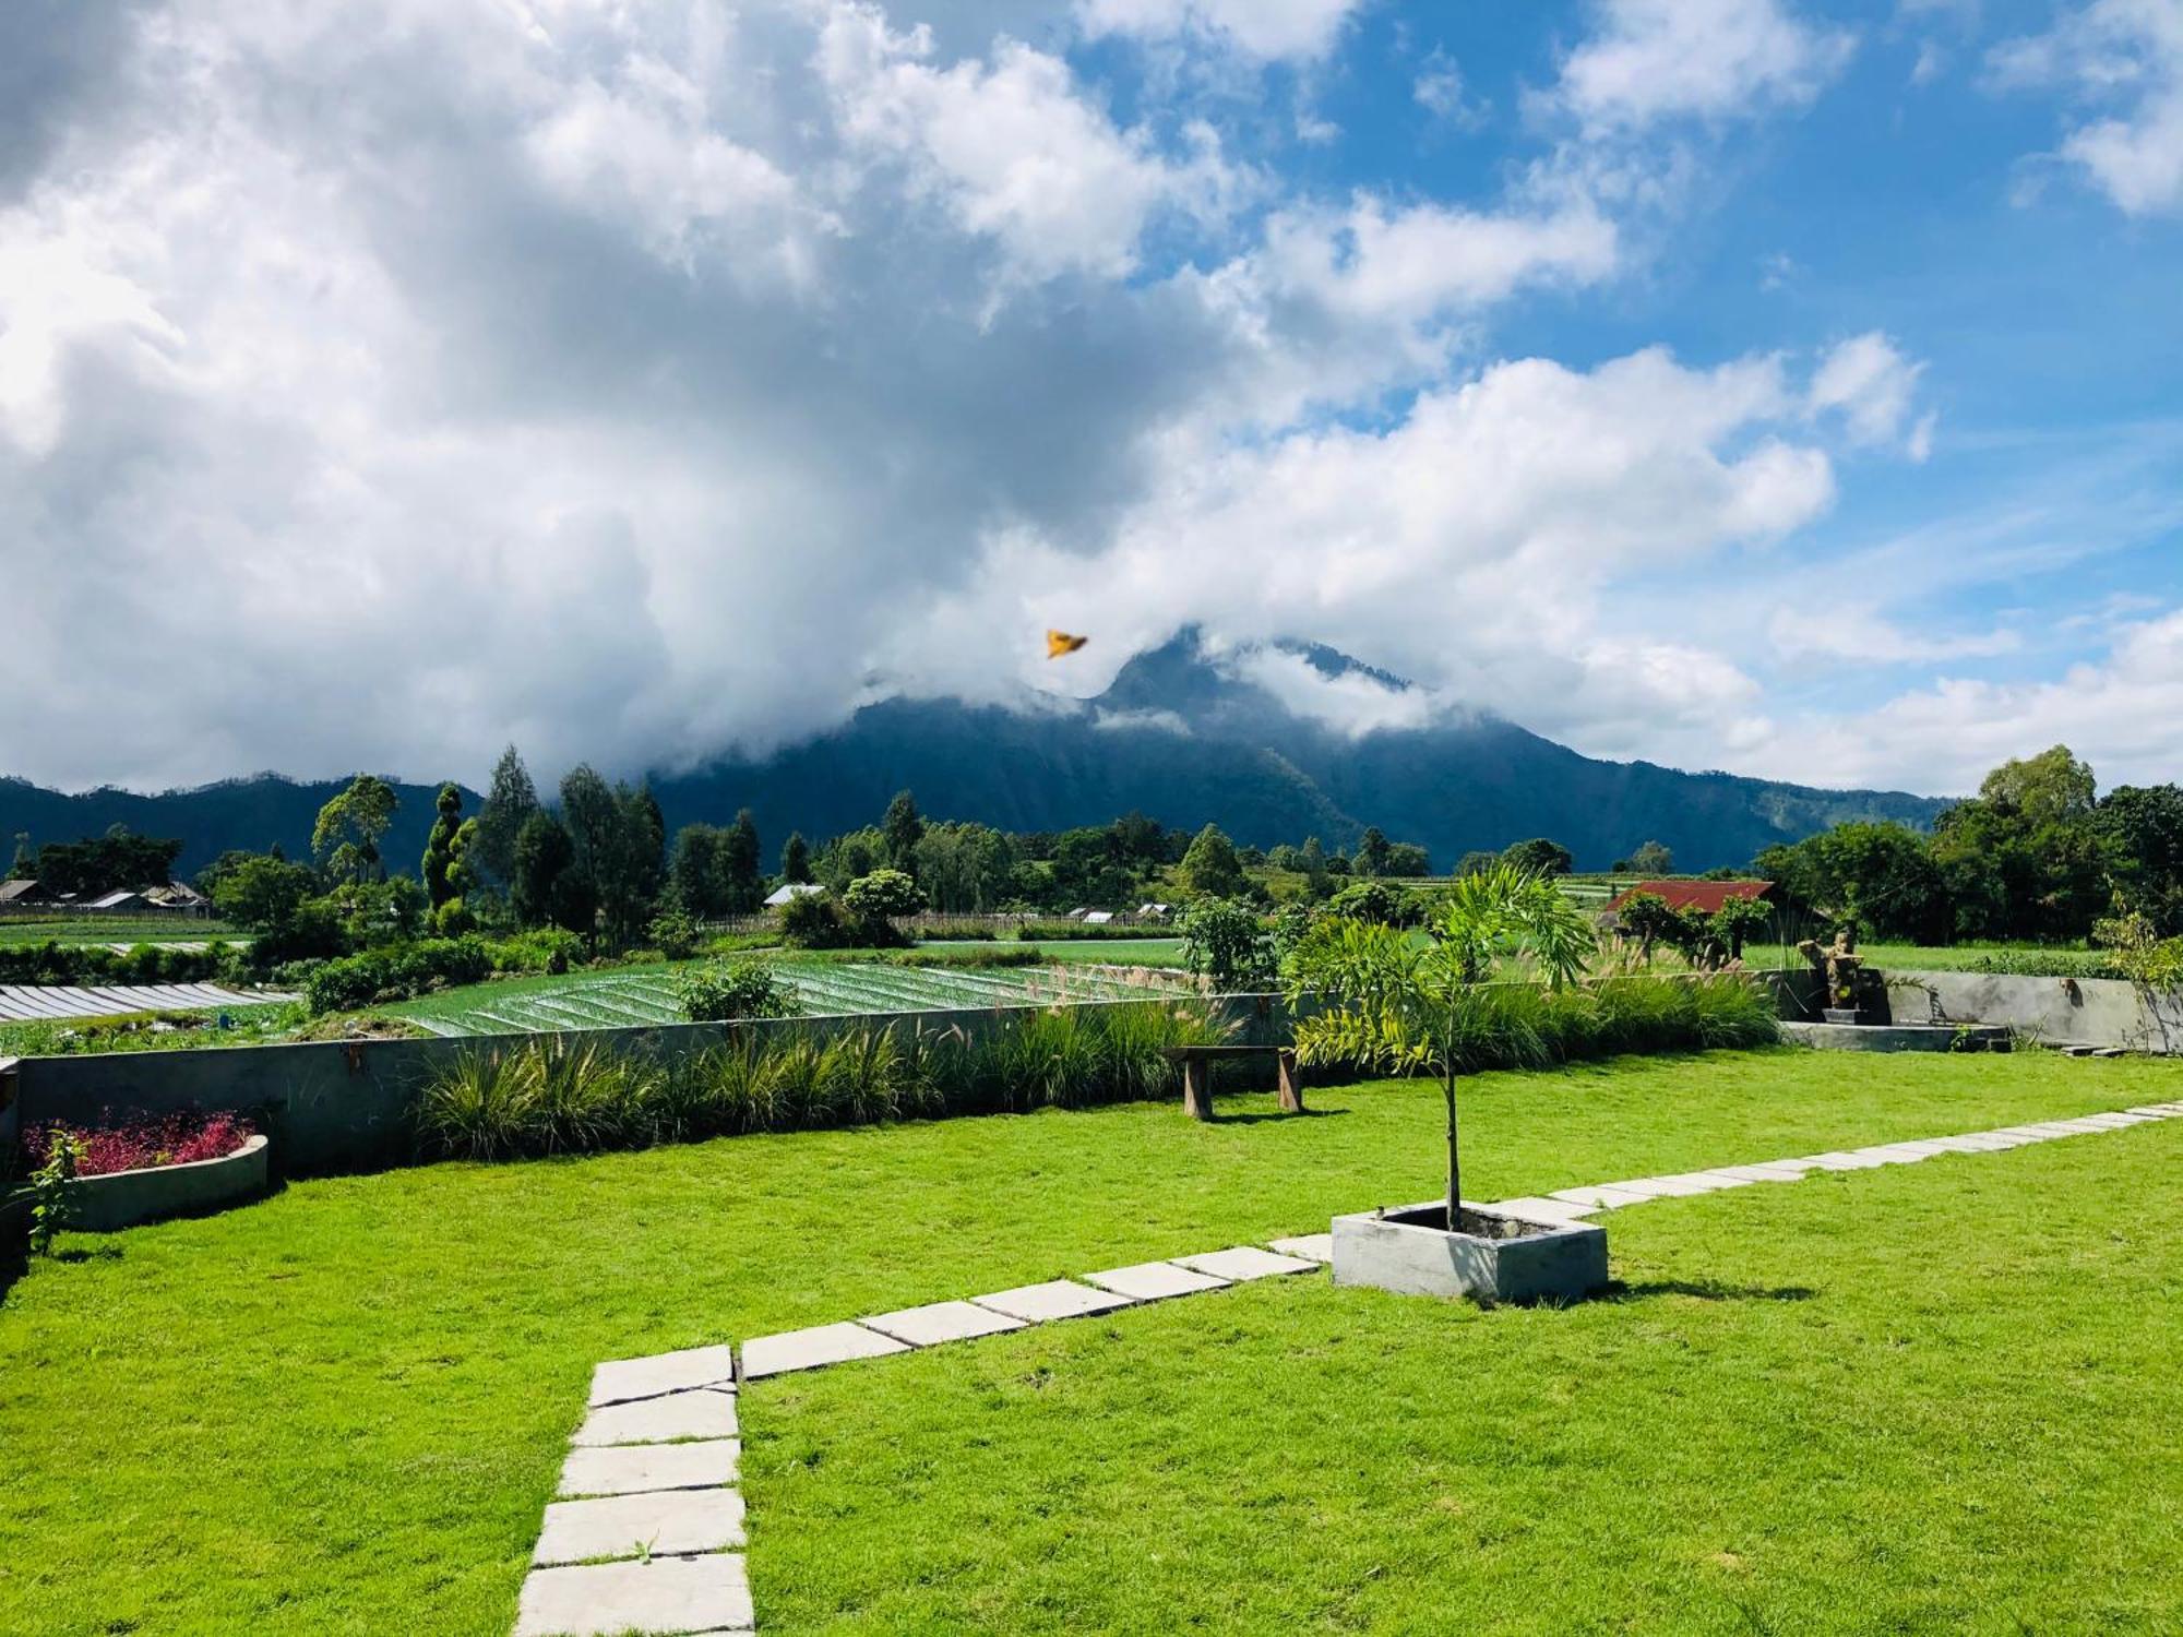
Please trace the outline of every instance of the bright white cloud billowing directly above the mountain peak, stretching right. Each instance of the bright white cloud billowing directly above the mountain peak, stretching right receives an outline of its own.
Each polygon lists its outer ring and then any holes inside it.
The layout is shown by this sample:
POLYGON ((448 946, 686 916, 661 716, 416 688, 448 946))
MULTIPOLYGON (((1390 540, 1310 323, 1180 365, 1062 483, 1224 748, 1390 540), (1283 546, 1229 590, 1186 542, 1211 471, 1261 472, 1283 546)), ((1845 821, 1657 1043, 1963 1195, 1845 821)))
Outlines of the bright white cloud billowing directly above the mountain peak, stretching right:
MULTIPOLYGON (((1799 417, 1779 360, 1701 371, 1653 349, 1589 373, 1493 365, 1386 430, 1177 441, 1109 543, 989 537, 965 587, 897 637, 897 664, 950 692, 991 690, 965 657, 1037 609, 1094 633, 1105 664, 1078 672, 1083 690, 1190 622, 1229 640, 1312 635, 1428 690, 1340 709, 1323 688, 1299 692, 1323 714, 1371 722, 1439 696, 1607 753, 1687 733, 1714 760, 1722 736, 1753 738, 1755 683, 1696 644, 1618 629, 1609 592, 1818 517, 1834 480, 1823 452, 1781 437, 1799 417)), ((1039 679, 1037 661, 1019 677, 1039 679)))

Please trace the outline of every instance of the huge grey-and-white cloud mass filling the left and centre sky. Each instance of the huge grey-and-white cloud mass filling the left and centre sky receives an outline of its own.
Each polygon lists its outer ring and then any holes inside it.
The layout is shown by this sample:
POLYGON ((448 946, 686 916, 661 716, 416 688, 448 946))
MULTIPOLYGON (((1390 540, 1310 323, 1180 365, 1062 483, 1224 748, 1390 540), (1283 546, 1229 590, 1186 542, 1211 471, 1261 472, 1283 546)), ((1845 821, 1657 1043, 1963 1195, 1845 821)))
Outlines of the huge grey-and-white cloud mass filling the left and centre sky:
MULTIPOLYGON (((1109 105, 1063 0, 943 9, 87 9, 0 107, 9 770, 635 770, 1192 620, 1425 683, 1253 661, 1349 727, 1764 736, 1615 592, 1764 561, 1840 445, 1914 441, 1895 343, 1495 362, 1502 303, 1624 273, 1605 172, 1284 188, 1109 105)), ((1349 13, 1100 26, 1301 61, 1349 13)))

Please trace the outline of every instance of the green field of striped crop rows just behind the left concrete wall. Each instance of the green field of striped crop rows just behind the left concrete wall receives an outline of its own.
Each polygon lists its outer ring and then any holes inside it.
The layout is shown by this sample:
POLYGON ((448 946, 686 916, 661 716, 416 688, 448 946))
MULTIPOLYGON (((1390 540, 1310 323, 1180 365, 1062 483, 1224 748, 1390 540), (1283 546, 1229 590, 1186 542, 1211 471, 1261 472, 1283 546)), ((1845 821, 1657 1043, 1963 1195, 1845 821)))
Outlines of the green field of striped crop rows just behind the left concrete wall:
MULTIPOLYGON (((1022 1006, 1037 1000, 1120 1000, 1146 993, 1122 969, 897 967, 886 963, 782 960, 782 976, 814 1015, 1022 1006)), ((679 967, 570 973, 474 984, 386 1011, 434 1035, 535 1035, 554 1028, 679 1024, 679 967)))

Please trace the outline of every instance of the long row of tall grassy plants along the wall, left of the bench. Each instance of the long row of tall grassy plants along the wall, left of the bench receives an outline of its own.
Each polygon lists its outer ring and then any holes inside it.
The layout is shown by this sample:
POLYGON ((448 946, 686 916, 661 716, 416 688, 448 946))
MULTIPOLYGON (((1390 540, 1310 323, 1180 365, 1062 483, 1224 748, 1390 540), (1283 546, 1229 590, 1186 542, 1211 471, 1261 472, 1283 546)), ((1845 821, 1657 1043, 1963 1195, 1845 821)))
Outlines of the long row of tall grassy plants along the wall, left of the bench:
POLYGON ((513 1159, 1164 1098, 1177 1089, 1166 1050, 1216 1039, 1194 1006, 1131 1002, 1028 1013, 978 1039, 908 1024, 738 1030, 672 1065, 520 1041, 465 1052, 432 1078, 417 1135, 430 1155, 513 1159))

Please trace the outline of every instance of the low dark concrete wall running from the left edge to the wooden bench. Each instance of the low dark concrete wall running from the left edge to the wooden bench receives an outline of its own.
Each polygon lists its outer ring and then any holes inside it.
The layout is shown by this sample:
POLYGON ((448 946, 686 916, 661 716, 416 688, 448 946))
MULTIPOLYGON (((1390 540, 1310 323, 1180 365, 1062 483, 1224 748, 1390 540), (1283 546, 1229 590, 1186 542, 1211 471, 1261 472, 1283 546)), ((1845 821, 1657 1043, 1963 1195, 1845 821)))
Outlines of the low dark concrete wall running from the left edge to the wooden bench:
MULTIPOLYGON (((1159 1000, 1153 995, 1153 1000, 1159 1000)), ((1140 1000, 1089 1006, 1142 1006, 1140 1000)), ((1279 995, 1225 995, 1212 1002, 1236 1024, 1240 1045, 1288 1041, 1279 995)), ((410 1157, 410 1109, 419 1089, 465 1052, 517 1041, 581 1041, 616 1050, 683 1056, 738 1032, 819 1032, 902 1024, 930 1032, 961 1030, 978 1039, 1039 1006, 886 1013, 856 1017, 784 1017, 744 1024, 664 1024, 594 1028, 568 1035, 502 1035, 430 1041, 321 1041, 310 1045, 229 1045, 181 1052, 111 1052, 28 1056, 0 1065, 0 1142, 22 1124, 98 1120, 100 1115, 231 1109, 273 1135, 273 1166, 284 1174, 360 1170, 410 1157)), ((1271 1074, 1271 1070, 1268 1070, 1271 1074)), ((1271 1080, 1268 1080, 1271 1083, 1271 1080)))

